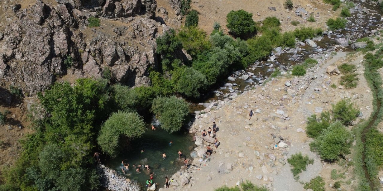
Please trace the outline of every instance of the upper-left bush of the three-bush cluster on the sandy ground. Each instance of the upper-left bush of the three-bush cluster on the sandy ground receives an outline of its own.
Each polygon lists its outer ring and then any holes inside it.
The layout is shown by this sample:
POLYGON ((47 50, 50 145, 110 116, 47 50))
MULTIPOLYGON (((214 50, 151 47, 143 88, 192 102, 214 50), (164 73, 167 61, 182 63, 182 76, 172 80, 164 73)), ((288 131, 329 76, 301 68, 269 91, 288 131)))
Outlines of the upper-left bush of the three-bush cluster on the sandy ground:
POLYGON ((329 112, 322 112, 318 119, 315 114, 307 118, 306 133, 308 137, 317 138, 324 129, 330 126, 331 117, 329 112))

